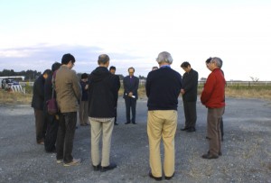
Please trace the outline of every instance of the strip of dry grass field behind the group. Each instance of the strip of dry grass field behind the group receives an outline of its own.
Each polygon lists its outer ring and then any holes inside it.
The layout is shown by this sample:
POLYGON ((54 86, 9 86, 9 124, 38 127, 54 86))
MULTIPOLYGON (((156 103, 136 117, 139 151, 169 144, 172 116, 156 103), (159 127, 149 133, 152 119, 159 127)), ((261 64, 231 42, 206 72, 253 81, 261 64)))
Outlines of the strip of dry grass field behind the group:
MULTIPOLYGON (((202 86, 199 86, 198 94, 201 95, 202 86)), ((31 104, 32 88, 25 88, 25 93, 7 92, 0 89, 0 104, 31 104)), ((119 90, 119 96, 123 95, 123 88, 119 90)), ((145 97, 145 87, 139 87, 139 98, 145 97)), ((237 98, 261 98, 271 100, 271 86, 227 86, 225 89, 226 97, 237 98)))

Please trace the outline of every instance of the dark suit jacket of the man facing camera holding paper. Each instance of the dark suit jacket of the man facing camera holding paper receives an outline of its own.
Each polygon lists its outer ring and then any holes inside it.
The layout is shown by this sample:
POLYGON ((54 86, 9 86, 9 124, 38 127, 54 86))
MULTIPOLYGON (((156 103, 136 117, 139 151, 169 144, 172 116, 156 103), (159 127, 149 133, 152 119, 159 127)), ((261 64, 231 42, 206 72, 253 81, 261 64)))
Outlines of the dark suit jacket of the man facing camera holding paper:
POLYGON ((138 85, 139 85, 139 78, 135 76, 132 77, 132 82, 130 81, 130 76, 126 76, 125 78, 123 78, 123 87, 124 87, 123 97, 124 98, 129 97, 128 94, 130 92, 133 92, 133 96, 135 96, 135 99, 137 99, 138 85))

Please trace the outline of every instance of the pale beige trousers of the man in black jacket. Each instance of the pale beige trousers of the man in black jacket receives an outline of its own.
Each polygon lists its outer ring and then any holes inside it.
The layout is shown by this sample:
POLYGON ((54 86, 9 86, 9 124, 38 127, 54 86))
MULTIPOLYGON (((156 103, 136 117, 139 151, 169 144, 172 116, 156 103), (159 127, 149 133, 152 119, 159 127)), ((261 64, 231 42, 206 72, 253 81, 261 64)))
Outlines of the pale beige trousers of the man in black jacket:
POLYGON ((107 119, 106 121, 100 122, 95 120, 90 120, 90 133, 91 133, 91 160, 92 165, 97 166, 101 163, 102 167, 107 167, 109 165, 110 156, 110 146, 111 137, 114 126, 114 117, 107 119), (99 155, 99 141, 102 133, 102 158, 100 160, 99 155))

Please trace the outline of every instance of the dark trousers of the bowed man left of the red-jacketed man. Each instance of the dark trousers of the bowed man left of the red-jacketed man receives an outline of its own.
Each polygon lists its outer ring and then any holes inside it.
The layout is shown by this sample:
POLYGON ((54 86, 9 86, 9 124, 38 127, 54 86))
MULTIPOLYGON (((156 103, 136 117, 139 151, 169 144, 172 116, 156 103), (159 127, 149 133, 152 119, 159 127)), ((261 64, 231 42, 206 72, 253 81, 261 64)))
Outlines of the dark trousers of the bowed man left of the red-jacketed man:
POLYGON ((195 128, 197 121, 196 102, 183 101, 183 111, 185 116, 185 128, 195 128))

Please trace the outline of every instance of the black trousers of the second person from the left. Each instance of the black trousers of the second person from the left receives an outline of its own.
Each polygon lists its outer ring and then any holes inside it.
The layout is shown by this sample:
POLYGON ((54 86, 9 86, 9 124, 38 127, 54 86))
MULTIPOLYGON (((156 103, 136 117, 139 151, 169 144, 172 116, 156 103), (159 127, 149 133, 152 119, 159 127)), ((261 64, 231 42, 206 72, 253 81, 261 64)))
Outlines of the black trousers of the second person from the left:
POLYGON ((48 114, 46 109, 44 113, 44 120, 47 124, 46 134, 45 134, 45 141, 44 141, 44 148, 45 151, 54 151, 55 142, 57 139, 58 128, 59 128, 59 120, 56 118, 56 115, 48 114))

